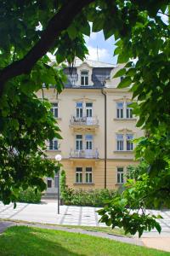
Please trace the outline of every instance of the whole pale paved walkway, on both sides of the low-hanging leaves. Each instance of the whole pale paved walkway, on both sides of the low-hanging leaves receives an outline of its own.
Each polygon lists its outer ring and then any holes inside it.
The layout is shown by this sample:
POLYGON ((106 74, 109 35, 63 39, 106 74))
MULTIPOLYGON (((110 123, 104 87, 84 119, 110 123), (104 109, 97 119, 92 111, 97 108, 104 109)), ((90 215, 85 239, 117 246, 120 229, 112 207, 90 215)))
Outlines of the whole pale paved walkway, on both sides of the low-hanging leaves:
MULTIPOLYGON (((3 206, 0 202, 0 218, 35 222, 39 224, 65 224, 83 226, 105 226, 99 223, 99 215, 96 207, 71 207, 61 206, 60 214, 57 214, 56 201, 42 201, 41 204, 18 203, 3 206)), ((147 247, 156 247, 170 252, 170 211, 148 211, 152 214, 160 214, 158 219, 161 224, 161 235, 156 230, 144 232, 140 241, 147 247)), ((3 229, 3 227, 2 227, 3 229)), ((1 230, 0 230, 1 231, 1 230)), ((88 233, 89 234, 89 233, 88 233)), ((137 239, 137 235, 135 236, 137 239)))

